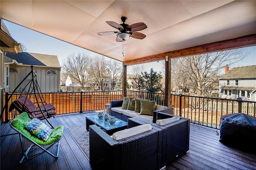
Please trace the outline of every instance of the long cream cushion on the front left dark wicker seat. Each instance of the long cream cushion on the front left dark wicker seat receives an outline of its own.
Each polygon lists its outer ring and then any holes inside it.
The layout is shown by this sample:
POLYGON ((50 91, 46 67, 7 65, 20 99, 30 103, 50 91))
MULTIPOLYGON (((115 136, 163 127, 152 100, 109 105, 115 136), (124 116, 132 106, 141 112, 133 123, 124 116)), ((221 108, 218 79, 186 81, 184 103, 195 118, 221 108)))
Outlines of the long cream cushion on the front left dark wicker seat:
POLYGON ((128 129, 124 129, 124 130, 115 132, 113 134, 113 138, 114 138, 114 140, 120 140, 120 139, 127 138, 130 136, 136 135, 136 134, 140 134, 142 132, 146 132, 151 129, 152 129, 152 127, 150 124, 139 125, 136 127, 132 127, 132 128, 128 128, 128 129))

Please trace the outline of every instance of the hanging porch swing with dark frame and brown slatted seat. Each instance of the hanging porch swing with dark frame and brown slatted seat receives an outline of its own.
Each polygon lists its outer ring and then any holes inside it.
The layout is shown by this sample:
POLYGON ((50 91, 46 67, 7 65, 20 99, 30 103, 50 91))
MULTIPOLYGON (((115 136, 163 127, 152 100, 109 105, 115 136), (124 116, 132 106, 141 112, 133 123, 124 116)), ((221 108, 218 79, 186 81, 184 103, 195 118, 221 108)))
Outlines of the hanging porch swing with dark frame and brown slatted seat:
MULTIPOLYGON (((12 98, 14 92, 20 87, 20 85, 31 75, 30 81, 26 84, 24 89, 19 95, 19 98, 13 101, 9 107, 9 112, 14 109, 19 113, 26 112, 30 119, 38 118, 40 120, 45 119, 47 123, 52 127, 52 124, 48 121, 47 118, 50 118, 56 115, 56 109, 52 103, 46 103, 42 91, 38 85, 36 78, 36 72, 31 65, 31 71, 26 75, 26 77, 20 82, 20 84, 14 89, 12 94, 8 97, 8 101, 12 98), (28 92, 25 93, 25 89, 28 87, 28 92), (37 106, 30 100, 30 97, 34 95, 34 100, 36 101, 37 106)), ((4 106, 6 109, 7 106, 4 106)))

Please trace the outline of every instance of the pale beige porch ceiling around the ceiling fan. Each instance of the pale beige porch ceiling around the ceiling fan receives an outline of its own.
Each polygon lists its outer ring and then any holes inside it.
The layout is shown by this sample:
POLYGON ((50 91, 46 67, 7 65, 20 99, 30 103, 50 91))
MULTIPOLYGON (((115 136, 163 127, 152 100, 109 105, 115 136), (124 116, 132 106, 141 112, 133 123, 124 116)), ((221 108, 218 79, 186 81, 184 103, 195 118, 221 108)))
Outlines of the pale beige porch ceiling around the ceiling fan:
POLYGON ((256 33, 255 0, 1 0, 10 22, 96 53, 128 61, 256 33), (116 42, 106 23, 144 22, 143 40, 116 42))

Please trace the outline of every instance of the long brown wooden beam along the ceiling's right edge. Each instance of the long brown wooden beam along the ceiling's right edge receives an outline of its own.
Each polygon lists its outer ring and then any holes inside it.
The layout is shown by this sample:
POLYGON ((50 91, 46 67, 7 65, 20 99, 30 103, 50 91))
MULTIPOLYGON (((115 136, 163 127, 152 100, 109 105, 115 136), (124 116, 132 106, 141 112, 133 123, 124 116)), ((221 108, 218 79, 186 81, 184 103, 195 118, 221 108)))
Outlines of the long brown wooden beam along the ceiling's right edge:
POLYGON ((179 50, 165 52, 165 53, 159 53, 156 55, 150 55, 147 57, 124 61, 123 63, 125 65, 135 65, 135 64, 164 60, 166 55, 168 55, 169 58, 178 58, 178 57, 186 57, 186 56, 197 55, 202 53, 210 53, 210 52, 223 51, 228 49, 249 47, 253 45, 256 45, 256 34, 251 34, 248 36, 242 36, 242 37, 233 38, 230 40, 224 40, 220 42, 198 45, 195 47, 189 47, 189 48, 179 49, 179 50))

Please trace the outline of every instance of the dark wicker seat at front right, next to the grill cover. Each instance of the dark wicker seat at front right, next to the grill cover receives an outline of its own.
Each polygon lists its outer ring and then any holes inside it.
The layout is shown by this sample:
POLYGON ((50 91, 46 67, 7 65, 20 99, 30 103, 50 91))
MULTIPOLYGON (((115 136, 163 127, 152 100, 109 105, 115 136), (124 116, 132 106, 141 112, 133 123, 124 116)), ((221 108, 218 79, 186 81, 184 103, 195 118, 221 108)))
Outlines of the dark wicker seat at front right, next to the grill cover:
MULTIPOLYGON (((163 112, 155 114, 158 118, 164 117, 164 119, 174 117, 163 112)), ((158 148, 159 152, 162 152, 160 154, 162 158, 158 158, 158 162, 161 162, 160 165, 158 164, 158 169, 189 152, 190 119, 180 117, 180 120, 163 126, 138 117, 128 119, 128 125, 132 127, 144 124, 151 124, 153 129, 158 130, 158 148)))

